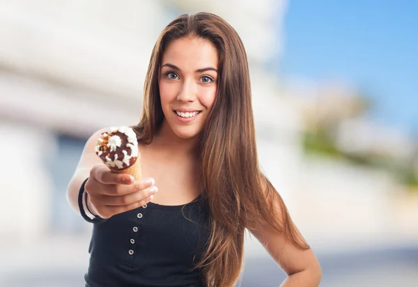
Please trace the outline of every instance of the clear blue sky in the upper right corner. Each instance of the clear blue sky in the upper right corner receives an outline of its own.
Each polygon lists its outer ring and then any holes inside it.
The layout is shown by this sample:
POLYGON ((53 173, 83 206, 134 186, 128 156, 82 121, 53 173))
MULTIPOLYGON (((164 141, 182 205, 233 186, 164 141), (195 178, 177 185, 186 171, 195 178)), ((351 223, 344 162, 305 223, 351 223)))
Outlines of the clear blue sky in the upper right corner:
POLYGON ((418 132, 418 1, 289 0, 284 77, 338 77, 373 99, 376 120, 418 132))

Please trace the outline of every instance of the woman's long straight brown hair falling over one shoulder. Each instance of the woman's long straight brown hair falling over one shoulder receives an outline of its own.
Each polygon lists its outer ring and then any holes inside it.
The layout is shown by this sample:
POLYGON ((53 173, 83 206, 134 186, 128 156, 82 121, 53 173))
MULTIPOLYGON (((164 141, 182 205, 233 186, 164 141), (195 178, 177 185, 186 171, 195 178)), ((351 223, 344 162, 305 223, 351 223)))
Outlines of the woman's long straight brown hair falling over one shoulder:
POLYGON ((309 245, 258 164, 247 54, 238 33, 221 17, 181 15, 162 31, 148 66, 141 121, 134 126, 138 139, 150 143, 162 124, 158 87, 162 55, 171 41, 186 36, 209 40, 219 55, 215 103, 196 146, 211 226, 206 252, 196 267, 208 286, 230 287, 240 278, 245 228, 254 231, 260 224, 270 224, 297 247, 309 245))

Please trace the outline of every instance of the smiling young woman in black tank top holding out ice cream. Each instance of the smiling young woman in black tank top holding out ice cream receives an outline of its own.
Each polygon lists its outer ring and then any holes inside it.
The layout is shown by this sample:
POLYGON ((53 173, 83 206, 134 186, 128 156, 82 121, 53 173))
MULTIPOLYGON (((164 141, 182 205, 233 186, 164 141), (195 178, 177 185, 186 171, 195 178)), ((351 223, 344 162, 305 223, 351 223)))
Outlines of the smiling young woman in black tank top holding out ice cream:
POLYGON ((101 162, 100 130, 68 186, 94 223, 86 286, 233 286, 245 228, 288 274, 282 286, 318 286, 316 256, 259 167, 247 55, 228 23, 198 13, 162 31, 133 128, 143 179, 101 162))

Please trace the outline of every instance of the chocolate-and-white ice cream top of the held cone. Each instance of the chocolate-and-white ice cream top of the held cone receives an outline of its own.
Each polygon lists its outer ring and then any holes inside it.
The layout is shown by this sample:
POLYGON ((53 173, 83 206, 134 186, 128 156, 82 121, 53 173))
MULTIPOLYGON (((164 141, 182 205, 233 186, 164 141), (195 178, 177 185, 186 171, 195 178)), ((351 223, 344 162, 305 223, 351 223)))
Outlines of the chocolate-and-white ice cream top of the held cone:
POLYGON ((137 134, 131 127, 111 127, 98 138, 95 153, 109 169, 127 169, 138 158, 137 134))

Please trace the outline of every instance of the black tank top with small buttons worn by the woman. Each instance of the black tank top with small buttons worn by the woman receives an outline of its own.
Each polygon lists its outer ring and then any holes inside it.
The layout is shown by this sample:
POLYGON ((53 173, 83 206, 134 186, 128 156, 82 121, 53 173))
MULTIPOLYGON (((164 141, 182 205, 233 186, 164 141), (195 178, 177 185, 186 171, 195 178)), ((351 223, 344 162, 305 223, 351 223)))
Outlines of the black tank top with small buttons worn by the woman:
POLYGON ((86 287, 203 287, 208 205, 148 203, 93 225, 86 287))

